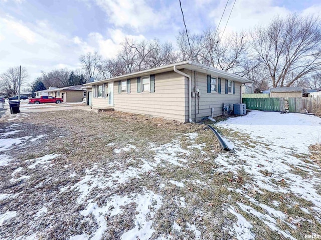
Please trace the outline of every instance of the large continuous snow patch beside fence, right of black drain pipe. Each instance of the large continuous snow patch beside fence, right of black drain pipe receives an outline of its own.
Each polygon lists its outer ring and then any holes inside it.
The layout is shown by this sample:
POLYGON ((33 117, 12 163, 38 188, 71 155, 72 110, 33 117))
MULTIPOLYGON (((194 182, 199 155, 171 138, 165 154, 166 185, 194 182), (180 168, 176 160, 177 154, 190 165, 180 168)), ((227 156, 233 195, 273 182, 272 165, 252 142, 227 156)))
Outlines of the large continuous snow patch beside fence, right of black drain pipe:
POLYGON ((251 111, 246 116, 230 118, 216 126, 250 135, 245 142, 231 137, 236 155, 227 157, 227 153, 223 152, 215 159, 223 165, 224 171, 237 173, 237 169, 244 168, 260 188, 282 193, 292 191, 312 201, 321 211, 321 195, 314 188, 321 183, 321 179, 313 175, 313 170, 319 167, 293 155, 308 153, 308 146, 317 142, 321 134, 321 118, 299 113, 251 111), (309 137, 303 137, 306 132, 309 132, 309 137), (293 173, 296 168, 311 177, 303 178, 293 173), (275 183, 282 179, 285 186, 275 183))

